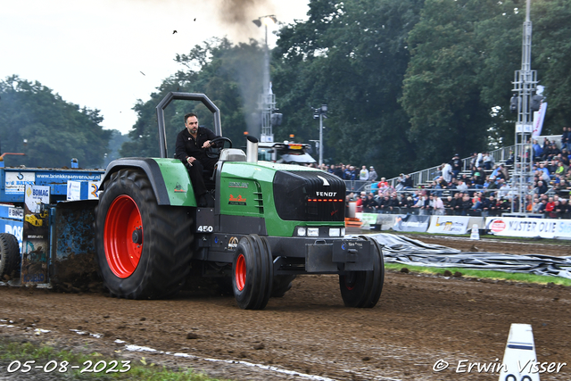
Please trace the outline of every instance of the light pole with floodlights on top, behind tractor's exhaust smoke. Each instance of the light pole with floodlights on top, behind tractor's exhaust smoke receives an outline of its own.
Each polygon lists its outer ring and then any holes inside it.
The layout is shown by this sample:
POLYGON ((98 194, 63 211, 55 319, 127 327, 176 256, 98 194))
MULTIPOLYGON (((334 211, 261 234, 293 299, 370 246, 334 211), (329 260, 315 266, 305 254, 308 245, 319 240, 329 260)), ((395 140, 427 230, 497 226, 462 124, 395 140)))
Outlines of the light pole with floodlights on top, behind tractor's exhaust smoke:
POLYGON ((259 17, 252 22, 256 24, 258 28, 263 24, 265 29, 263 84, 259 100, 259 107, 261 109, 260 140, 262 143, 272 143, 274 141, 274 134, 271 130, 271 114, 276 109, 276 95, 273 94, 269 82, 268 26, 274 25, 277 19, 275 15, 270 14, 268 16, 259 17))

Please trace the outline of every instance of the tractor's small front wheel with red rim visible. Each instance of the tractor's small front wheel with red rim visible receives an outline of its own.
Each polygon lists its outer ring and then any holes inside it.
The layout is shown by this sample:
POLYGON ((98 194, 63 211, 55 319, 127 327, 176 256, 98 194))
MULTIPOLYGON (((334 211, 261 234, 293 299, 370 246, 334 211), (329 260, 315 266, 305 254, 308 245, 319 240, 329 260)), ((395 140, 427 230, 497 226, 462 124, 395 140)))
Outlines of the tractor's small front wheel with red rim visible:
POLYGON ((263 310, 269 301, 274 266, 266 238, 251 234, 238 242, 232 263, 232 288, 242 310, 263 310))

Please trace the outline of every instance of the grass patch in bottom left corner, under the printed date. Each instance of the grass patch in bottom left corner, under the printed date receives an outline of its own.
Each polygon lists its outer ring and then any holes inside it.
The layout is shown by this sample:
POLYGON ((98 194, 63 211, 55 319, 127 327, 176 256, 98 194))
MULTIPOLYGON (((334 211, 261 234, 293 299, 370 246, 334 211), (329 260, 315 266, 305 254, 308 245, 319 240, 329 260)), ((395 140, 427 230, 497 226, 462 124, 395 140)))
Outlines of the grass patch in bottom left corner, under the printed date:
POLYGON ((137 361, 130 360, 128 364, 123 361, 125 360, 106 358, 97 352, 78 354, 58 351, 45 344, 10 342, 5 337, 0 340, 0 363, 6 374, 50 373, 54 377, 71 380, 222 381, 194 373, 193 369, 167 369, 145 360, 145 357, 137 361), (71 369, 73 365, 79 366, 79 369, 71 369), (35 368, 37 366, 42 368, 35 368), (26 369, 29 370, 25 372, 26 369), (61 372, 62 369, 66 371, 61 372))

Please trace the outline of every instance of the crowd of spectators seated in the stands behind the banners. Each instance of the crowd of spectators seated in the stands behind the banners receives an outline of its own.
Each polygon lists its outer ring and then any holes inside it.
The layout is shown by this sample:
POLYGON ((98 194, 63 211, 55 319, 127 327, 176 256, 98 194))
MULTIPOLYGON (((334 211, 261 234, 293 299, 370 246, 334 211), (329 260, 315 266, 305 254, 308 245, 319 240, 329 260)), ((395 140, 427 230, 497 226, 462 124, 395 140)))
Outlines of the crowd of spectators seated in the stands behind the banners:
POLYGON ((372 213, 452 214, 494 216, 519 211, 512 189, 510 170, 533 157, 533 178, 522 210, 548 218, 571 217, 571 128, 564 128, 561 148, 545 138, 542 145, 528 142, 525 158, 510 153, 506 162, 496 163, 490 153, 473 153, 468 165, 455 154, 434 172, 428 184, 415 185, 401 173, 392 183, 377 178, 370 166, 330 165, 320 167, 339 178, 368 182, 367 191, 350 192, 346 201, 356 202, 359 211, 372 213), (532 153, 533 150, 533 153, 532 153))

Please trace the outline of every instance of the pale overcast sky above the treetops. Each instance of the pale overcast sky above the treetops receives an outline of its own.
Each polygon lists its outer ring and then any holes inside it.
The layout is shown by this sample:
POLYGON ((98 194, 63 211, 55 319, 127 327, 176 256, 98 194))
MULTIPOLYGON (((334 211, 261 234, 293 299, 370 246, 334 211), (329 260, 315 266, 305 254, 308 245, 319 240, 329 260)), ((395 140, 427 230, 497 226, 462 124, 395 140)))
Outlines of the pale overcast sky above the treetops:
MULTIPOLYGON (((309 0, 15 0, 0 7, 0 79, 39 81, 127 133, 131 110, 210 37, 262 40, 252 20, 306 20, 309 0), (194 20, 195 19, 195 20, 194 20), (173 34, 173 31, 177 33, 173 34)), ((269 45, 275 44, 270 35, 269 45)), ((1 101, 0 101, 1 102, 1 101)))

